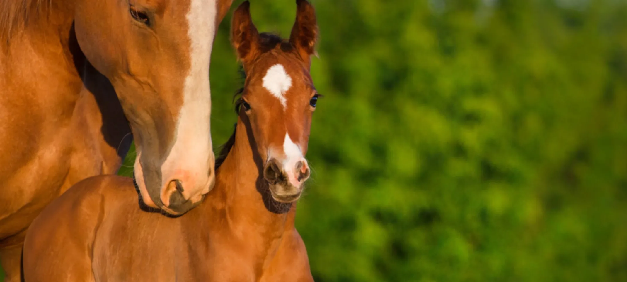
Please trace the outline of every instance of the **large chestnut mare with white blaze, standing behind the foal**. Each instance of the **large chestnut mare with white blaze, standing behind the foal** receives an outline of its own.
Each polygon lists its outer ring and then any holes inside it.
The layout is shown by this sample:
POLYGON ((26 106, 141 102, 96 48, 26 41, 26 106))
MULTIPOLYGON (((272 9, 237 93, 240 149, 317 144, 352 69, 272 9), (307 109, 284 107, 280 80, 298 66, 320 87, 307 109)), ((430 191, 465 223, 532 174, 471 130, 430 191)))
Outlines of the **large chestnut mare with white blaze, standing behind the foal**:
POLYGON ((33 219, 76 182, 114 174, 133 138, 148 206, 181 214, 213 187, 209 57, 231 1, 0 1, 8 281, 33 219))

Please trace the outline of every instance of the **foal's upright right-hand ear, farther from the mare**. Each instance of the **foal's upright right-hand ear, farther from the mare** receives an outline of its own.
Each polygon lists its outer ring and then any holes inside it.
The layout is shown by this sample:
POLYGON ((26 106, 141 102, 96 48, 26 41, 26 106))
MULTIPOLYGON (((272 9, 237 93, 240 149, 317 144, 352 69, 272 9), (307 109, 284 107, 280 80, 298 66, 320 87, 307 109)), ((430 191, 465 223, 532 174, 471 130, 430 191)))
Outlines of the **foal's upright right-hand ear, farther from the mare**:
POLYGON ((309 56, 315 54, 314 46, 318 39, 318 24, 315 21, 314 6, 306 0, 296 0, 296 21, 290 34, 290 43, 296 47, 303 61, 310 64, 309 56))

